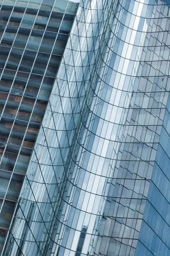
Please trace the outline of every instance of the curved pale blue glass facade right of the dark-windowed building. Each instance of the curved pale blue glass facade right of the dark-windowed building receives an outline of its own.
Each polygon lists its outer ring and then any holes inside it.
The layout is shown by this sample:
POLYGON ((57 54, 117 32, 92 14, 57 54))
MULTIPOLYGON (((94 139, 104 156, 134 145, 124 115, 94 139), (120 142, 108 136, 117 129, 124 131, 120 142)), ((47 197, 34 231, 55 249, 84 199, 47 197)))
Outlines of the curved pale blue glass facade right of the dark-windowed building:
POLYGON ((169 31, 167 1, 80 2, 3 256, 170 255, 169 31))

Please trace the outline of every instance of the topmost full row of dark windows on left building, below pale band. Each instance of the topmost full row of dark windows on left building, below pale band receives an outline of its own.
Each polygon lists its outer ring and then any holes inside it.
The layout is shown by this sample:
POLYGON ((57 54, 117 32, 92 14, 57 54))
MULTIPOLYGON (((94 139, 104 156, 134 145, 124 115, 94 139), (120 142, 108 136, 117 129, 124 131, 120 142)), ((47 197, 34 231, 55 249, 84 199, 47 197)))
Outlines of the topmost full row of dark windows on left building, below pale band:
POLYGON ((26 29, 39 29, 51 32, 69 34, 74 15, 59 12, 37 11, 34 9, 14 8, 2 6, 0 9, 0 25, 21 26, 26 29), (37 14, 38 12, 38 14, 37 14))

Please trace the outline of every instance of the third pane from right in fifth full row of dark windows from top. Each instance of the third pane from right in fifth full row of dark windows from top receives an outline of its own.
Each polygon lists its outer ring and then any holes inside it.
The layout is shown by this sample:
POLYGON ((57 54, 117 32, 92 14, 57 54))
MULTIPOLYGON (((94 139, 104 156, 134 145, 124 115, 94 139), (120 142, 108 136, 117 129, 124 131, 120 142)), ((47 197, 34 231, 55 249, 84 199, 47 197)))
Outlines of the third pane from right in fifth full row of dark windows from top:
POLYGON ((9 95, 3 116, 15 118, 20 105, 21 96, 9 95))

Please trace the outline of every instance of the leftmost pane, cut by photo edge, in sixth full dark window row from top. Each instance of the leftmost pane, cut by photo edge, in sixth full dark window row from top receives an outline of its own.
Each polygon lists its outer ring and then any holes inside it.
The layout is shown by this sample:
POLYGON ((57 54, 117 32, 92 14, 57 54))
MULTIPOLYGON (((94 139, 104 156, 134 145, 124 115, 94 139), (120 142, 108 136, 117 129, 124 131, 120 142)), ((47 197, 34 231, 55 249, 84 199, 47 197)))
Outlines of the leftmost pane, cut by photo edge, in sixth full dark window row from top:
POLYGON ((0 119, 0 142, 7 142, 11 127, 13 124, 13 119, 1 118, 0 119))

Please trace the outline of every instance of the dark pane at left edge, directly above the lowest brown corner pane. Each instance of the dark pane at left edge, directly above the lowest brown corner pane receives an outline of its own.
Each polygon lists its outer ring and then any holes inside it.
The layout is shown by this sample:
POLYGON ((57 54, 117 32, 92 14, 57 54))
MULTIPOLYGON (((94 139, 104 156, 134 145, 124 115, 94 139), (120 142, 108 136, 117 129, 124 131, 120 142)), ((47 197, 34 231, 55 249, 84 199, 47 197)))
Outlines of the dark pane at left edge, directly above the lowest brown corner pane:
POLYGON ((5 200, 0 213, 0 227, 8 228, 14 213, 16 203, 5 200))

